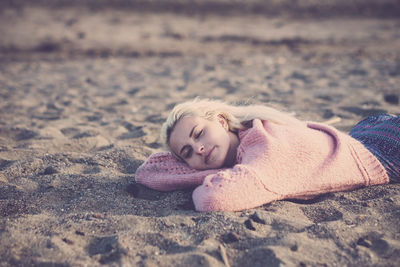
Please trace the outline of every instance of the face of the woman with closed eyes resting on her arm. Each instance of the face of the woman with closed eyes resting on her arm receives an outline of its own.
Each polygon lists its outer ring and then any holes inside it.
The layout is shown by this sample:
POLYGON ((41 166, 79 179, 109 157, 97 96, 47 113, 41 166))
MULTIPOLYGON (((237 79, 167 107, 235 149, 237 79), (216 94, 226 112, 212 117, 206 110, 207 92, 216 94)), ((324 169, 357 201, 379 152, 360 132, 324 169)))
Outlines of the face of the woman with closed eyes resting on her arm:
POLYGON ((228 158, 236 156, 236 148, 231 146, 231 134, 222 116, 215 120, 188 116, 176 123, 169 143, 172 151, 190 167, 218 169, 228 158))

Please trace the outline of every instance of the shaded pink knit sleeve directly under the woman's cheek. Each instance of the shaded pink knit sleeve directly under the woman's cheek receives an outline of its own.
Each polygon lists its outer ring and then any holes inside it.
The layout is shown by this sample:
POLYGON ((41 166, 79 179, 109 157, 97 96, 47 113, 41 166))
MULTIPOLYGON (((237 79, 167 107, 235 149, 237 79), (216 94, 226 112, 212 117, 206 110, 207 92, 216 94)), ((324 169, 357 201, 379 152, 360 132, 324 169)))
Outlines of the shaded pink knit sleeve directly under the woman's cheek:
POLYGON ((136 182, 159 191, 172 191, 200 185, 215 170, 198 171, 178 161, 170 152, 151 155, 137 170, 136 182))

